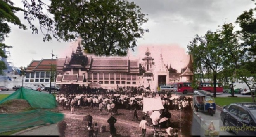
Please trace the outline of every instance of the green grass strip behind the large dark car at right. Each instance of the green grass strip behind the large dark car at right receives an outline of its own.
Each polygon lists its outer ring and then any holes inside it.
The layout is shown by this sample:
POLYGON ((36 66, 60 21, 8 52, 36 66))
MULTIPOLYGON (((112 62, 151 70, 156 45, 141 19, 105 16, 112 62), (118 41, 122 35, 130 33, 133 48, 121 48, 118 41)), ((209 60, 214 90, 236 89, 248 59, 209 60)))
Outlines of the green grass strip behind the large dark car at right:
POLYGON ((231 103, 239 103, 239 102, 252 102, 251 97, 218 97, 215 98, 215 103, 219 106, 224 106, 224 105, 230 105, 231 103))

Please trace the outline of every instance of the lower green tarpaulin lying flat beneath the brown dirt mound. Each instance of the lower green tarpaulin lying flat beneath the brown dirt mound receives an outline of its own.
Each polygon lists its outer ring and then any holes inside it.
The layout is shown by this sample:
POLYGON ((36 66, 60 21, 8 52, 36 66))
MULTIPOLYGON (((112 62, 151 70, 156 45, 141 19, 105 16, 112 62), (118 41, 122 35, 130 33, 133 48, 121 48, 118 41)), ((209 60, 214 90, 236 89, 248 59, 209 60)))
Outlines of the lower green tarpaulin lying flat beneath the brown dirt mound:
POLYGON ((30 128, 45 123, 57 123, 64 119, 64 114, 50 112, 42 109, 19 112, 13 114, 0 114, 0 132, 30 128))

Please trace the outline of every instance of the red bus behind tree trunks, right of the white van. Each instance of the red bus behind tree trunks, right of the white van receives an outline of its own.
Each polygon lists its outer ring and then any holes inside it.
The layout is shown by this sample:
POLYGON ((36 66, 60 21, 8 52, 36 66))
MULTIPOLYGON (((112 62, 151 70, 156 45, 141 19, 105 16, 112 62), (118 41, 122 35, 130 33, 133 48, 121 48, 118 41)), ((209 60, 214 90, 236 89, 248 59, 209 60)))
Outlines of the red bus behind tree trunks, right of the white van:
MULTIPOLYGON (((177 83, 177 92, 187 94, 193 93, 194 89, 191 87, 191 82, 179 82, 177 83)), ((202 90, 212 92, 214 91, 213 83, 211 82, 202 82, 202 90)), ((201 89, 200 83, 198 83, 198 89, 201 89)), ((223 87, 221 83, 216 83, 216 93, 223 92, 223 87)))

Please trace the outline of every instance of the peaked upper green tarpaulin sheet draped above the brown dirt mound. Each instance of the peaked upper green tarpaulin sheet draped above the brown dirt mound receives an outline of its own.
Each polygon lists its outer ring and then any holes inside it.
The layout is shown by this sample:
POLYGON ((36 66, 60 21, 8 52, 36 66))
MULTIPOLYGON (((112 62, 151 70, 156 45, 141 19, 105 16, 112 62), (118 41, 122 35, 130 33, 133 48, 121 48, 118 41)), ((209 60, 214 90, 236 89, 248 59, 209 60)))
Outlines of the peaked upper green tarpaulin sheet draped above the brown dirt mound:
POLYGON ((0 104, 12 99, 27 100, 31 107, 52 109, 57 107, 55 97, 52 94, 38 92, 31 89, 21 87, 7 98, 0 101, 0 104))

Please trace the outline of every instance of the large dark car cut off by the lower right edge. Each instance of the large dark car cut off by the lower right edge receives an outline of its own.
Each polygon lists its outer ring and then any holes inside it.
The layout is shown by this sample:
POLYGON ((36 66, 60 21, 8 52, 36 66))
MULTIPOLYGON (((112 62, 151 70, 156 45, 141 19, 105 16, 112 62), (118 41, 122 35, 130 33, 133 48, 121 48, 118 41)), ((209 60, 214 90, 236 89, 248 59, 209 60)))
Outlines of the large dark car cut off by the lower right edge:
POLYGON ((231 103, 220 113, 223 130, 235 132, 238 136, 256 135, 256 103, 231 103), (241 130, 240 130, 241 129, 241 130))

